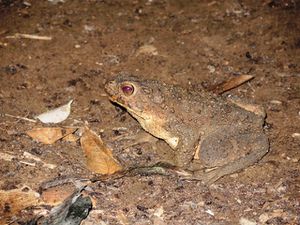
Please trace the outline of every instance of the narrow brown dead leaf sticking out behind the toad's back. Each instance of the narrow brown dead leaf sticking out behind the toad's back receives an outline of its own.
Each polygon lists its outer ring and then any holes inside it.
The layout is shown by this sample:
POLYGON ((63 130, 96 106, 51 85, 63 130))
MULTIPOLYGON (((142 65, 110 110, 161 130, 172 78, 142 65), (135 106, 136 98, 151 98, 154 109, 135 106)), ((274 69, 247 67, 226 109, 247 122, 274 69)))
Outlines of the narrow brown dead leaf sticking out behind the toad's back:
POLYGON ((221 84, 214 85, 209 88, 209 91, 213 91, 216 94, 222 94, 226 91, 229 91, 233 88, 240 86, 241 84, 251 80, 253 76, 251 75, 240 75, 238 77, 231 78, 221 84))

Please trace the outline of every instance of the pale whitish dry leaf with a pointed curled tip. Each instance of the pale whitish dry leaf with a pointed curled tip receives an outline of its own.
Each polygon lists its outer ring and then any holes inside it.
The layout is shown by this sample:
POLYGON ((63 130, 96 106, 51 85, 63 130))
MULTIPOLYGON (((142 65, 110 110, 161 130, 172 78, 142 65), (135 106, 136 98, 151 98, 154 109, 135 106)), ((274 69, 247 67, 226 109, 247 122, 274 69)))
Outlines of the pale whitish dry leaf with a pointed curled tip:
POLYGON ((56 109, 50 110, 48 112, 42 113, 35 117, 43 123, 60 123, 68 118, 71 112, 71 104, 73 100, 69 101, 67 104, 60 106, 56 109))

